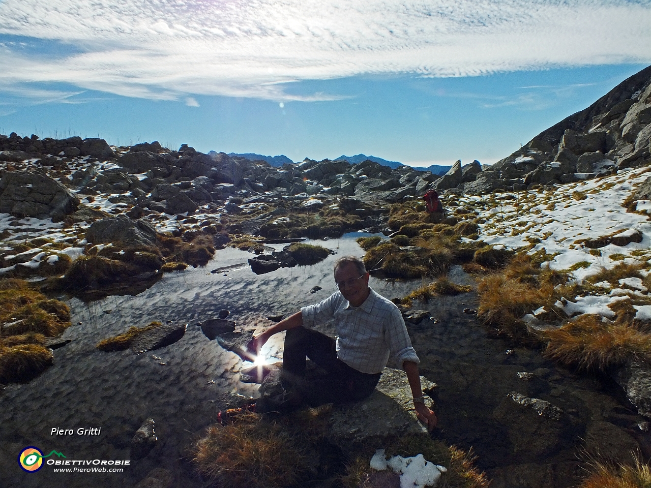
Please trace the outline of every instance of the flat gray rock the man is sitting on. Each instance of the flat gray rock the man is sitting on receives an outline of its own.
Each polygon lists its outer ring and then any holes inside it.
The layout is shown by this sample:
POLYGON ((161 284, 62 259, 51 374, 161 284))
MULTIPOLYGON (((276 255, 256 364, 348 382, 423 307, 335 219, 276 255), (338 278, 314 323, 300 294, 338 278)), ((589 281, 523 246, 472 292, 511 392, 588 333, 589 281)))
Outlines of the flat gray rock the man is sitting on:
MULTIPOLYGON (((421 386, 431 392, 437 385, 421 376, 421 386)), ((355 446, 370 439, 426 433, 416 418, 412 398, 407 374, 384 368, 376 390, 366 400, 334 407, 329 437, 339 446, 355 446)), ((425 400, 431 401, 427 396, 425 400)))

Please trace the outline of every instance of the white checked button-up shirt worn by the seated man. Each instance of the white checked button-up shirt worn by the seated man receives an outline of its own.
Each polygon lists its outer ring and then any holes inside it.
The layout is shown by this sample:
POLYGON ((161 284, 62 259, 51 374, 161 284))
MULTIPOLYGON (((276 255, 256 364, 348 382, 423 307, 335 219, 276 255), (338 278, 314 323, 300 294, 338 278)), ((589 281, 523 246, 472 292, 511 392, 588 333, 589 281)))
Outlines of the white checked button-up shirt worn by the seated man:
POLYGON ((389 355, 400 368, 404 361, 421 362, 400 310, 373 290, 357 307, 336 291, 321 303, 301 308, 301 315, 306 328, 335 319, 337 357, 362 373, 380 373, 389 355))

